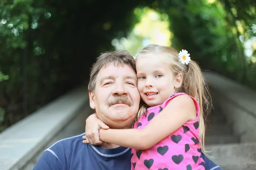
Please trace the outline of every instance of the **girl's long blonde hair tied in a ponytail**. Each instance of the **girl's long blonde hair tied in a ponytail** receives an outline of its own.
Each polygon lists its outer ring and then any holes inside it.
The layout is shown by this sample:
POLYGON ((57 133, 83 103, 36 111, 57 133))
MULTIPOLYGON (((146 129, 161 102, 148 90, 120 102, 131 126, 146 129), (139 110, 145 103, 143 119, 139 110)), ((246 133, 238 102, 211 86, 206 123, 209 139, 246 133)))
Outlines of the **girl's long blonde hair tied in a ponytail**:
MULTIPOLYGON (((137 55, 136 59, 140 57, 145 57, 147 54, 155 54, 155 56, 161 56, 170 64, 170 69, 172 69, 174 76, 177 74, 182 74, 183 80, 180 88, 175 89, 175 93, 186 93, 189 96, 194 97, 200 106, 199 113, 199 138, 201 139, 201 149, 204 154, 206 154, 204 149, 204 135, 206 130, 206 116, 211 109, 211 100, 208 91, 208 85, 204 76, 201 72, 200 67, 194 61, 190 61, 188 65, 182 64, 180 62, 177 51, 168 46, 160 46, 151 44, 143 48, 137 55)), ((148 105, 143 101, 140 104, 140 109, 136 121, 140 119, 143 113, 147 113, 148 105)))

